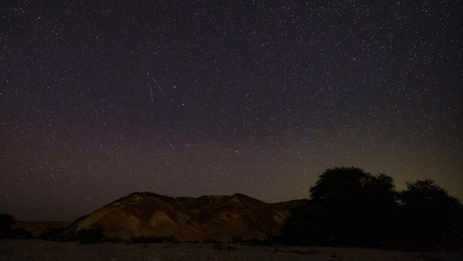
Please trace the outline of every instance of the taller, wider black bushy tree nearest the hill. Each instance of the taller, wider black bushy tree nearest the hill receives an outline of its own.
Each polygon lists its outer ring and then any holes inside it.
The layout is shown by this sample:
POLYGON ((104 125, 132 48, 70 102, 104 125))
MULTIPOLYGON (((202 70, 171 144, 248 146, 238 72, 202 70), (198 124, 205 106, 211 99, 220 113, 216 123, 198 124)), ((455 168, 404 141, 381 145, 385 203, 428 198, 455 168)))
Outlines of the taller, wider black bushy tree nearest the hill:
POLYGON ((289 243, 385 245, 395 235, 397 204, 392 178, 360 168, 331 168, 292 211, 283 227, 289 243))

